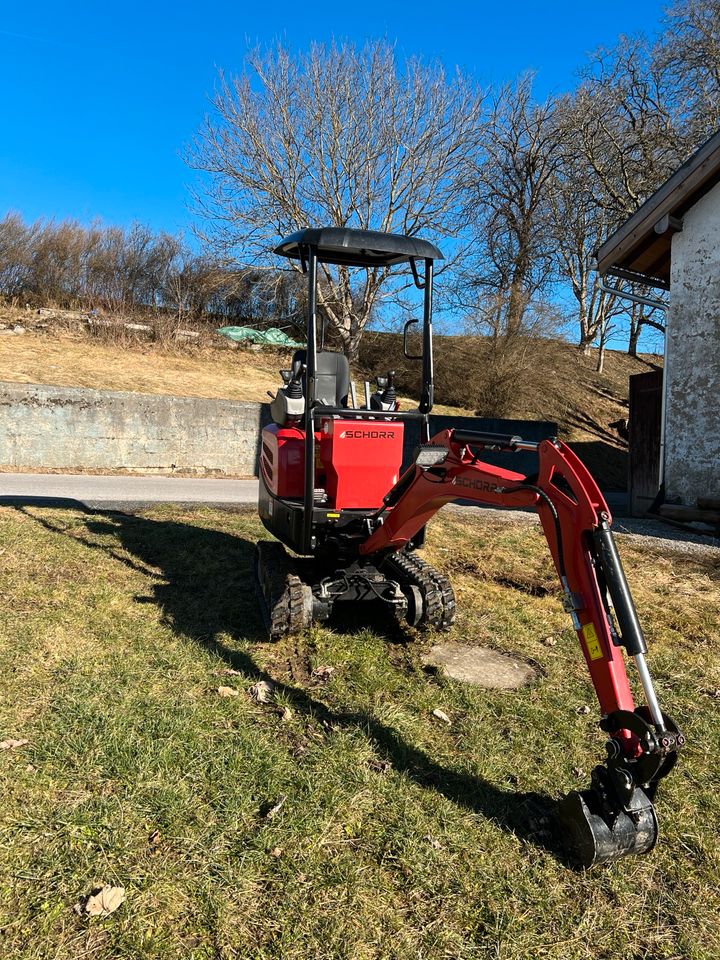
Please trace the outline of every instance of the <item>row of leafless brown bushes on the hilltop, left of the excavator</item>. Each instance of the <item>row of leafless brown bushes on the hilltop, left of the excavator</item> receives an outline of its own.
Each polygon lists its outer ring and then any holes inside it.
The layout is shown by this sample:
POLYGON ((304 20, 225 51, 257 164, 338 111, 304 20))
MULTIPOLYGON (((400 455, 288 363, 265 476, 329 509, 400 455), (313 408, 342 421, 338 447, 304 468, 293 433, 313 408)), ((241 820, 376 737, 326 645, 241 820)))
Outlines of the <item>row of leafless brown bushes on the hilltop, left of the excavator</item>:
MULTIPOLYGON (((305 286, 289 271, 229 270, 141 224, 0 219, 0 297, 16 304, 296 327, 305 286)), ((155 320, 152 322, 155 323, 155 320)))

